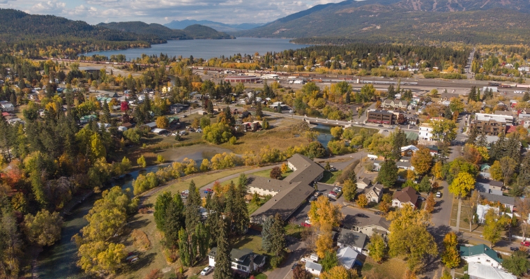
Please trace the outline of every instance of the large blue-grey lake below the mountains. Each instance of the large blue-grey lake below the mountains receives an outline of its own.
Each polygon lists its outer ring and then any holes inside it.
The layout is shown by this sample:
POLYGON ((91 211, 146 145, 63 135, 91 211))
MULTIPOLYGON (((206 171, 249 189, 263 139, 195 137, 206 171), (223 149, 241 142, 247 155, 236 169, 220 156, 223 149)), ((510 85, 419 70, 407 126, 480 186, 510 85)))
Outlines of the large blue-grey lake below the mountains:
POLYGON ((282 52, 283 50, 296 50, 310 45, 295 45, 289 43, 290 39, 278 38, 236 38, 235 40, 168 40, 165 44, 151 45, 150 48, 131 48, 128 50, 110 50, 105 52, 89 52, 84 55, 124 54, 127 59, 142 57, 142 54, 157 56, 167 54, 169 56, 183 56, 185 58, 211 59, 213 57, 234 56, 234 54, 250 54, 255 52, 265 54, 266 52, 282 52))

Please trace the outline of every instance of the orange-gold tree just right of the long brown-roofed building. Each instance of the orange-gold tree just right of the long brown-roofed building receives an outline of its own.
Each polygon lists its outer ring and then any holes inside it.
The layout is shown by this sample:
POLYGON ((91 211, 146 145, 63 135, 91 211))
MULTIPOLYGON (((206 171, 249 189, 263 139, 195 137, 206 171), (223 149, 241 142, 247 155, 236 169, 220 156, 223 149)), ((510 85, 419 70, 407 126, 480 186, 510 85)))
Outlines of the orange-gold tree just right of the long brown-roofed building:
POLYGON ((321 232, 331 232, 331 229, 338 227, 340 220, 342 220, 339 206, 331 204, 324 195, 311 203, 308 216, 311 219, 311 224, 321 232))

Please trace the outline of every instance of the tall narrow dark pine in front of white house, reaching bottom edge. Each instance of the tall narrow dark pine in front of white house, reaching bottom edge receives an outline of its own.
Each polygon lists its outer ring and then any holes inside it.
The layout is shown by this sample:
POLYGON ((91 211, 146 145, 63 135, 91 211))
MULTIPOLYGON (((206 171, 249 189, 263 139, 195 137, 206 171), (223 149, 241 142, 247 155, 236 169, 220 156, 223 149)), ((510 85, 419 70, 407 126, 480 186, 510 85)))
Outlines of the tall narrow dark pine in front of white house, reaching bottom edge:
POLYGON ((232 279, 232 260, 230 259, 231 249, 228 243, 227 223, 220 218, 218 226, 219 236, 217 239, 217 251, 215 252, 213 279, 232 279))

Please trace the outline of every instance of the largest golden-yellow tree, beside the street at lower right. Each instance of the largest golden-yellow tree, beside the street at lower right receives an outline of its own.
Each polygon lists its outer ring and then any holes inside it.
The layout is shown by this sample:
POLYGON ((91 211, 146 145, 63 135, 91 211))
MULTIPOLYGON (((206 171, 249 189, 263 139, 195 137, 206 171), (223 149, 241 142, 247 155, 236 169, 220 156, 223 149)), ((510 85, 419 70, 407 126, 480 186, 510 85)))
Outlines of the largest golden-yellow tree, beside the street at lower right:
POLYGON ((388 213, 391 221, 388 236, 388 248, 391 257, 403 255, 407 257, 409 270, 415 271, 425 261, 425 256, 438 254, 434 237, 427 231, 430 225, 429 213, 423 210, 414 211, 412 206, 405 204, 395 212, 388 213))

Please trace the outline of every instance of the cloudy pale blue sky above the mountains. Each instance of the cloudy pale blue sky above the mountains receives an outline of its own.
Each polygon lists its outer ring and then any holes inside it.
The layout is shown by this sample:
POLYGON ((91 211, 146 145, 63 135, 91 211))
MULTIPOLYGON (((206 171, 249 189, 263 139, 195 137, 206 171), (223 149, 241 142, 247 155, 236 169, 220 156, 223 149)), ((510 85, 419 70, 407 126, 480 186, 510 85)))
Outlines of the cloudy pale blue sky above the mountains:
POLYGON ((271 22, 324 3, 342 0, 0 0, 0 8, 58 15, 89 24, 211 20, 227 24, 271 22))

